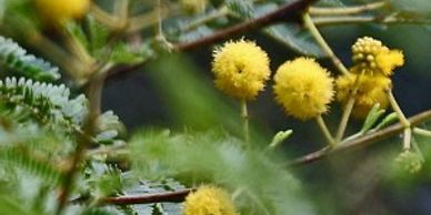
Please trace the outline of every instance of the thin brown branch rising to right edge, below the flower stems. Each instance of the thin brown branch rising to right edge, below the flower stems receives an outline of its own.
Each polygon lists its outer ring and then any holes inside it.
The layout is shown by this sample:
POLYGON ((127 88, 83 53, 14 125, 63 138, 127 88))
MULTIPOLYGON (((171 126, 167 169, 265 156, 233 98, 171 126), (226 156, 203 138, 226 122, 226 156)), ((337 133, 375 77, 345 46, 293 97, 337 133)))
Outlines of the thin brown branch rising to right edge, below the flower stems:
MULTIPOLYGON (((431 110, 419 113, 414 116, 409 117, 408 120, 412 126, 418 125, 420 123, 423 123, 428 120, 431 120, 431 110)), ((304 156, 301 156, 299 158, 293 160, 292 162, 288 163, 288 166, 308 164, 308 163, 319 161, 319 160, 321 160, 330 154, 333 154, 333 153, 338 153, 338 152, 342 152, 342 151, 347 151, 347 150, 354 150, 354 149, 358 149, 361 146, 363 147, 363 146, 367 146, 369 144, 379 142, 381 140, 388 139, 392 135, 399 134, 399 133, 403 132, 403 130, 404 130, 403 124, 401 122, 399 122, 399 123, 393 124, 387 129, 372 132, 370 134, 354 139, 352 141, 345 142, 345 143, 341 143, 339 146, 337 146, 334 149, 331 149, 328 146, 323 147, 319 151, 312 152, 310 154, 307 154, 304 156)))

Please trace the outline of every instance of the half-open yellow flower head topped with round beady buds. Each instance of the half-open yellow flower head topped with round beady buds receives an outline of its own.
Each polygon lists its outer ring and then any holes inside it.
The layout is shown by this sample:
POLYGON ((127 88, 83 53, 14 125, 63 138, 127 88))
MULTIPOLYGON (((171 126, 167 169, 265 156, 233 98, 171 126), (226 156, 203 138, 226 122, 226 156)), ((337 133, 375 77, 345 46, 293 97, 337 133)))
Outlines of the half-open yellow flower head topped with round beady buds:
POLYGON ((352 45, 352 72, 355 73, 381 73, 389 76, 397 66, 404 64, 404 55, 400 50, 390 50, 370 37, 359 38, 352 45))

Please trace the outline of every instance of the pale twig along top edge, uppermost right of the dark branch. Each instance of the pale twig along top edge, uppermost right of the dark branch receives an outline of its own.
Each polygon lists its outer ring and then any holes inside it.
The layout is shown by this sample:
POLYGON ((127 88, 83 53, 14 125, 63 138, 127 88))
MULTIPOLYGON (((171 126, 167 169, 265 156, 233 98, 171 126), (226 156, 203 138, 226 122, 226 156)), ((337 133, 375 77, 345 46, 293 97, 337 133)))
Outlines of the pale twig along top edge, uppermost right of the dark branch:
POLYGON ((320 8, 311 7, 309 12, 312 16, 340 16, 340 14, 357 14, 368 11, 373 11, 387 6, 385 1, 367 3, 362 6, 342 7, 342 8, 320 8))

